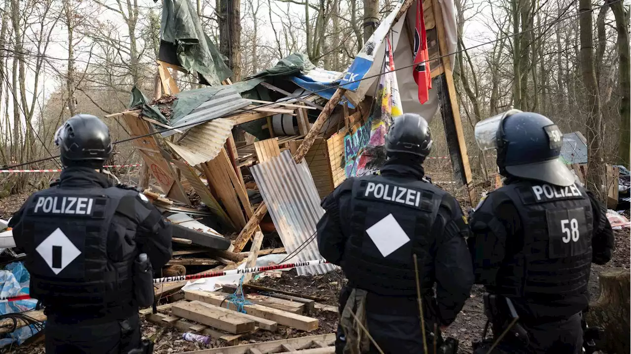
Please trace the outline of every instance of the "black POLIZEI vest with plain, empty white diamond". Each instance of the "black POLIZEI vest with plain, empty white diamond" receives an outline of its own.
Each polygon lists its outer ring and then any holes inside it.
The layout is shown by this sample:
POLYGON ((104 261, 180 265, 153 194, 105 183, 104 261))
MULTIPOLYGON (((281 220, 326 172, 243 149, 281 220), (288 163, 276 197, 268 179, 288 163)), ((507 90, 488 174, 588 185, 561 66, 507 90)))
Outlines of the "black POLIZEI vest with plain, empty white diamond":
POLYGON ((379 295, 414 296, 416 254, 423 294, 431 292, 430 230, 445 192, 424 181, 364 176, 352 193, 343 263, 349 282, 379 295))

